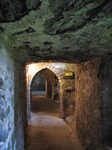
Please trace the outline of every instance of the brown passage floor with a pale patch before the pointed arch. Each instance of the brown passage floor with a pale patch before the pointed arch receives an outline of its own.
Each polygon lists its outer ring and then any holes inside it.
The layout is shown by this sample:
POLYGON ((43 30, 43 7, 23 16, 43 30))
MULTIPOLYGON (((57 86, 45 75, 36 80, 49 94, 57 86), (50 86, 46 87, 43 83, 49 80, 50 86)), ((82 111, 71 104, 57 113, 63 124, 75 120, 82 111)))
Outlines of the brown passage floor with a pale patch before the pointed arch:
POLYGON ((56 102, 33 96, 26 150, 82 150, 77 137, 59 118, 56 102))

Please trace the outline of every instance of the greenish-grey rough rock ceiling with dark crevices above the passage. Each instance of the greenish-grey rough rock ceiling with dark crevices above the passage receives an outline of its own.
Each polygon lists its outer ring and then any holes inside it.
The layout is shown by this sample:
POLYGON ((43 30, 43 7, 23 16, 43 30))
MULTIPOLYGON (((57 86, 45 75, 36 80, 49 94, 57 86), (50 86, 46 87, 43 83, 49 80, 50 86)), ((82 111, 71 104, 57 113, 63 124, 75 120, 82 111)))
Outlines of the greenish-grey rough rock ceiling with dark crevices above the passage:
POLYGON ((0 0, 0 31, 26 60, 112 55, 112 0, 0 0))

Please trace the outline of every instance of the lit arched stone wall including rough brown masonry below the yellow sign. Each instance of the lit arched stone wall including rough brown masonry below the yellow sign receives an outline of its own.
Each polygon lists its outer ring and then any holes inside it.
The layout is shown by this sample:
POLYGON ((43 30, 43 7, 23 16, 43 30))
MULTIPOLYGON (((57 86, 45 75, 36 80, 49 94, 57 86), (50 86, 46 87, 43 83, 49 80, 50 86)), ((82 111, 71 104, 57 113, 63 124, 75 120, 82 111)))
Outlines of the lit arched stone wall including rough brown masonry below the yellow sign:
POLYGON ((74 64, 66 63, 33 63, 26 66, 27 72, 27 117, 30 119, 30 88, 31 81, 34 75, 43 70, 49 69, 58 78, 60 84, 60 117, 67 118, 74 114, 75 110, 75 77, 67 77, 66 73, 73 73, 75 70, 74 64))

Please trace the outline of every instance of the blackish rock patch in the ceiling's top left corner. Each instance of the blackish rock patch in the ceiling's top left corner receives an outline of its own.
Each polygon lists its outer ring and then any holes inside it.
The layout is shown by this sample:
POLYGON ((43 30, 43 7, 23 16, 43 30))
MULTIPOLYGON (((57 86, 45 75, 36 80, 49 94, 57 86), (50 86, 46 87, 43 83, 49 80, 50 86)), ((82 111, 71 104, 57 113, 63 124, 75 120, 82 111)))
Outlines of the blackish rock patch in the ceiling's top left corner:
POLYGON ((15 21, 30 10, 38 8, 40 0, 1 0, 0 1, 0 20, 15 21))

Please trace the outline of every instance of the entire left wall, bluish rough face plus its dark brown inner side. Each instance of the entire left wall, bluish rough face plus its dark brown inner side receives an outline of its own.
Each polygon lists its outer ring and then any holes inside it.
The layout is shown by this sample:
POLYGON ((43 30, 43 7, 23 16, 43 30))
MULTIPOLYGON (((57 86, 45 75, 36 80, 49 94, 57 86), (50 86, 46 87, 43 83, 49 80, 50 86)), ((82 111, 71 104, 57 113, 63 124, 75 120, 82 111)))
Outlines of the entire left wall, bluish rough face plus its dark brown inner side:
MULTIPOLYGON (((0 149, 24 150, 25 67, 7 35, 0 37, 0 149)), ((27 121, 26 121, 27 122, 27 121)))

